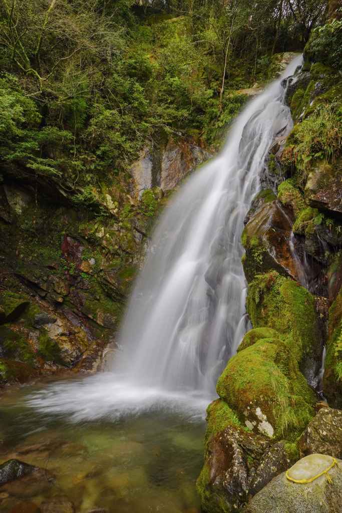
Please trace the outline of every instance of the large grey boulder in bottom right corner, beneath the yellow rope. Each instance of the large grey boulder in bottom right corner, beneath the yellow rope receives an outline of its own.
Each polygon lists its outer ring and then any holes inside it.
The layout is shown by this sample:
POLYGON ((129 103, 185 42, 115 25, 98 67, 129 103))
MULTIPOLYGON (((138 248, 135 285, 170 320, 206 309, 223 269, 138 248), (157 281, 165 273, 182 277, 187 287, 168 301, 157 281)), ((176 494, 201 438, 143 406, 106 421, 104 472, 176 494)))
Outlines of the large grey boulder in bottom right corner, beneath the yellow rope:
MULTIPOLYGON (((321 456, 321 455, 315 455, 321 456)), ((315 476, 324 468, 329 467, 329 457, 323 464, 317 457, 308 456, 299 460, 291 470, 296 473, 297 478, 312 475, 315 476), (306 459, 313 458, 314 464, 305 468, 306 459), (298 466, 301 465, 299 468, 298 466), (297 472, 296 472, 297 471, 297 472)), ((256 494, 244 513, 336 513, 339 505, 342 504, 342 461, 337 460, 329 470, 329 477, 333 484, 330 484, 323 474, 312 483, 293 483, 283 472, 274 478, 268 485, 256 494)))

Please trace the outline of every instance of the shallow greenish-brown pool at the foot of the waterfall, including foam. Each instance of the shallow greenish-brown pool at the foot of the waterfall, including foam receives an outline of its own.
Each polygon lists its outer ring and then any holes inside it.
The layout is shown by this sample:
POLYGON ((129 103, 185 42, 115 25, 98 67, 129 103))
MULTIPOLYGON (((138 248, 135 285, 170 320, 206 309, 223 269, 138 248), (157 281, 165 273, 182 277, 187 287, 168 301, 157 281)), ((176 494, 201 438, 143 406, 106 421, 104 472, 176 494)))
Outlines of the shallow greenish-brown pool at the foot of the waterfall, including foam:
MULTIPOLYGON (((21 501, 41 504, 66 495, 76 511, 197 513, 195 482, 203 465, 208 398, 128 389, 99 411, 91 388, 114 392, 113 377, 93 377, 13 388, 0 401, 1 460, 17 458, 47 468, 49 483, 18 481, 0 488, 0 513, 21 501), (84 392, 78 415, 61 400, 61 388, 84 392), (59 404, 53 404, 58 388, 59 404), (86 412, 87 392, 89 410, 86 412), (147 399, 149 395, 149 399, 147 399), (125 397, 127 407, 123 406, 125 397), (47 399, 48 398, 48 399, 47 399), (144 398, 144 399, 143 399, 144 398), (50 405, 50 406, 48 406, 50 405), (93 408, 93 418, 89 411, 93 408), (83 411, 84 415, 80 413, 83 411), (8 497, 7 497, 8 496, 8 497), (1 500, 2 499, 2 500, 1 500)), ((75 397, 77 401, 77 397, 75 397)), ((210 400, 210 399, 209 399, 210 400)))

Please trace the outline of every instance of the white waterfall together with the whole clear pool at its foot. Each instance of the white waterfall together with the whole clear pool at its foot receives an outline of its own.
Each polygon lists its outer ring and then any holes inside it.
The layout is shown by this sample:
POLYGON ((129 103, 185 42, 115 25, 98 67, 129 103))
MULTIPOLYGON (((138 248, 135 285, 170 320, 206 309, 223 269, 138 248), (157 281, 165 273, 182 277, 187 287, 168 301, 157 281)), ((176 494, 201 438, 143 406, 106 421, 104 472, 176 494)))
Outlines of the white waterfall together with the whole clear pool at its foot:
MULTIPOLYGON (((200 512, 205 410, 249 329, 243 221, 274 137, 292 129, 285 79, 300 62, 247 105, 223 151, 166 207, 113 372, 10 387, 1 397, 3 461, 23 459, 54 476, 44 490, 24 487, 30 501, 67 496, 82 513, 200 512)), ((13 482, 0 513, 23 500, 20 486, 13 482)))

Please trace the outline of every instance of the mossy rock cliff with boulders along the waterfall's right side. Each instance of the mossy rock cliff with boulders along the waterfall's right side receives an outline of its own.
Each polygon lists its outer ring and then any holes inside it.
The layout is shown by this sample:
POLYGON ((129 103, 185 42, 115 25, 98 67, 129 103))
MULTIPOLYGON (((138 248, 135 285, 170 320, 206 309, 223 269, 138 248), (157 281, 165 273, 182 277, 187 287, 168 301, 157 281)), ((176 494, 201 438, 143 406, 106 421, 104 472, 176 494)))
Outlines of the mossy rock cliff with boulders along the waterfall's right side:
MULTIPOLYGON (((328 413, 335 419, 339 410, 315 415, 322 398, 342 406, 341 86, 339 73, 317 62, 307 61, 293 78, 286 101, 294 128, 283 147, 275 141, 268 163, 282 178, 270 189, 265 183, 246 216, 243 265, 253 329, 207 410, 197 489, 210 513, 247 503, 248 511, 261 511, 275 487, 268 483, 300 457, 339 457, 332 447, 342 437, 328 413)), ((280 511, 273 499, 270 510, 280 511)))

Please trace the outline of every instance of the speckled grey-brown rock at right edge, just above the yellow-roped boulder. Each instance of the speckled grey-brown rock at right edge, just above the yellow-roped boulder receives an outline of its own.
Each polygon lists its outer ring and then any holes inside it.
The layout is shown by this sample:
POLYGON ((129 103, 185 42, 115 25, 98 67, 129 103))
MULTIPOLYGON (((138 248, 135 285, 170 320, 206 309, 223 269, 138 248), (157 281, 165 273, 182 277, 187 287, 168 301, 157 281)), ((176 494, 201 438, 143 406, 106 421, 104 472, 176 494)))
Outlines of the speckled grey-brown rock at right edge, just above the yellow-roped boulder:
POLYGON ((299 439, 299 448, 304 456, 321 453, 342 457, 342 411, 320 408, 299 439))

